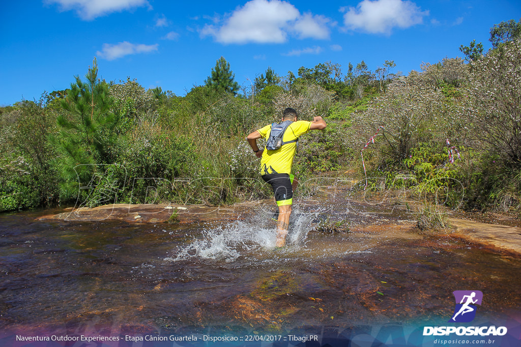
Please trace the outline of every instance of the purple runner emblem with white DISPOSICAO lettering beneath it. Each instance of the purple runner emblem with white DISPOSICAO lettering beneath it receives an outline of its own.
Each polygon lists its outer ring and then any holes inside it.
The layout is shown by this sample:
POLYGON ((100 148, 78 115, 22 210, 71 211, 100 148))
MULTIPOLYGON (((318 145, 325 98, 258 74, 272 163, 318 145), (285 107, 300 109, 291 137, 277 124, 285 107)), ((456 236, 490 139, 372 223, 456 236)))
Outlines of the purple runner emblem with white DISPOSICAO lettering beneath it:
MULTIPOLYGON (((452 292, 456 305, 449 323, 468 323, 476 317, 477 307, 481 305, 483 293, 479 290, 455 290, 452 292)), ((429 335, 451 335, 458 336, 503 336, 507 333, 506 327, 482 326, 482 327, 424 327, 424 336, 429 335)))

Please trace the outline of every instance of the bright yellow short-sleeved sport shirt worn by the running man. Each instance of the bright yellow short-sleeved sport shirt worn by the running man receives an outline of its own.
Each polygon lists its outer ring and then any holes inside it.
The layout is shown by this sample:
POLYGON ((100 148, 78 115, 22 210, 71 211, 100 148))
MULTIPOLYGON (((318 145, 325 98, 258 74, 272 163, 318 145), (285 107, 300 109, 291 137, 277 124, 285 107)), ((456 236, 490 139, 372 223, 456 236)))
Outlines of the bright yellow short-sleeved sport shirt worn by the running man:
MULTIPOLYGON (((291 123, 284 132, 282 140, 284 142, 292 141, 309 131, 311 122, 296 121, 291 123)), ((261 136, 268 138, 271 133, 271 124, 266 125, 258 130, 261 136)), ((261 175, 272 173, 291 174, 291 166, 293 165, 293 157, 295 156, 296 142, 282 145, 279 149, 268 150, 264 148, 261 158, 261 175)))

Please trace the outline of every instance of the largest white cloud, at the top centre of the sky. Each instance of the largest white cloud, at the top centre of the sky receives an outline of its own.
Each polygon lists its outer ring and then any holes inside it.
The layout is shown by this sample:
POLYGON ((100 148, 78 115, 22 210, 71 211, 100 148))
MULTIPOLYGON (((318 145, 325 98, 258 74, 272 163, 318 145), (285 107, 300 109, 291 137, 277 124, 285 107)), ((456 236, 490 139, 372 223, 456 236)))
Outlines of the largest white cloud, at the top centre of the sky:
POLYGON ((329 19, 311 13, 301 15, 292 4, 280 0, 252 0, 236 8, 224 24, 207 24, 201 36, 220 43, 283 43, 288 34, 299 38, 329 38, 329 19))

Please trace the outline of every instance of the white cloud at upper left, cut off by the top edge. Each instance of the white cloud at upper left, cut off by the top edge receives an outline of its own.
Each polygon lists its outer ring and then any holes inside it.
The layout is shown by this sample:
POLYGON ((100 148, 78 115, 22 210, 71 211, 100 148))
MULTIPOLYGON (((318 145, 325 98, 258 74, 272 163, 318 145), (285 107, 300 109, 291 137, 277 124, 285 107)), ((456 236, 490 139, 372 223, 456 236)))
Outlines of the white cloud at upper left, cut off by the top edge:
POLYGON ((92 20, 111 12, 121 12, 135 7, 152 8, 147 0, 46 0, 46 2, 60 5, 62 11, 76 10, 83 20, 92 20))

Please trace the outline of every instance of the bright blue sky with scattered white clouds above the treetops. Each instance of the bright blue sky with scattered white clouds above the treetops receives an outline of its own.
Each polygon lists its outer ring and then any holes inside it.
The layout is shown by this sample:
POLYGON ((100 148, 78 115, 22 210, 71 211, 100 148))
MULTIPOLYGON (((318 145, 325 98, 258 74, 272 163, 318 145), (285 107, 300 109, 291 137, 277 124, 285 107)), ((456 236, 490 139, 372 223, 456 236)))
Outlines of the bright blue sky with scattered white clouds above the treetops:
POLYGON ((0 5, 0 106, 69 87, 97 57, 102 78, 184 95, 224 56, 250 85, 268 66, 394 60, 407 74, 422 62, 462 56, 501 21, 521 18, 519 1, 43 0, 0 5))

